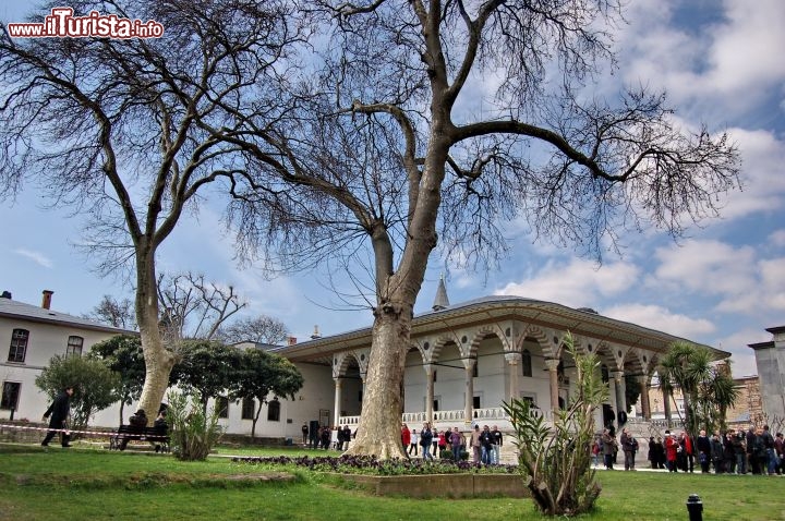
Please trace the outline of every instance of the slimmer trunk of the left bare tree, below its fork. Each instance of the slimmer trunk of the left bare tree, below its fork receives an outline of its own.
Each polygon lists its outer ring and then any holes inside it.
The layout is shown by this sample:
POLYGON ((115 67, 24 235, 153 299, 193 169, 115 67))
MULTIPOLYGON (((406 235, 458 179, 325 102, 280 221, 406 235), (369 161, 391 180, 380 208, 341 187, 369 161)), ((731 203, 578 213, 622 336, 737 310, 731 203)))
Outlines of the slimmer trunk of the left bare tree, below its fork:
POLYGON ((142 253, 136 246, 136 323, 142 337, 145 359, 145 383, 140 398, 140 409, 147 419, 155 419, 169 387, 169 374, 174 366, 174 355, 166 349, 158 326, 158 293, 156 290, 155 251, 142 253))

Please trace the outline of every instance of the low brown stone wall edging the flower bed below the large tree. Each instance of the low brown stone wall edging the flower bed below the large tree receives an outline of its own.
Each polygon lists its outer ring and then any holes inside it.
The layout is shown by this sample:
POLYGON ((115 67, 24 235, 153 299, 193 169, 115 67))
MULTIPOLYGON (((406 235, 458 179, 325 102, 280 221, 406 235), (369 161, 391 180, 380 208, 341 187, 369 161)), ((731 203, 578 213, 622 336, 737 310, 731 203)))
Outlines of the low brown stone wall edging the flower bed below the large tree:
POLYGON ((337 475, 378 496, 416 498, 528 496, 523 480, 517 474, 337 475))

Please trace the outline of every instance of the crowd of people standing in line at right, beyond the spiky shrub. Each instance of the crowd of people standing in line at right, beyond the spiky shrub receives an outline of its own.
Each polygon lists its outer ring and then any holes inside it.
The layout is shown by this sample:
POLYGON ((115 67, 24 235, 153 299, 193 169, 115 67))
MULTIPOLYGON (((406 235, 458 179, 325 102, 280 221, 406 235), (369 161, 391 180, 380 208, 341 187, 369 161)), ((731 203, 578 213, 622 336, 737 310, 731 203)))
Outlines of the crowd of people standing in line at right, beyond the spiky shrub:
MULTIPOLYGON (((639 450, 635 437, 625 428, 616 440, 612 429, 604 429, 592 447, 594 465, 602 455, 605 469, 613 470, 619 450, 625 455, 625 470, 635 470, 635 456, 639 450)), ((783 434, 772 435, 769 425, 750 426, 748 431, 716 431, 711 436, 700 431, 696 437, 665 431, 664 437, 649 438, 648 461, 652 469, 668 472, 700 470, 715 474, 782 475, 785 473, 784 450, 783 434)))

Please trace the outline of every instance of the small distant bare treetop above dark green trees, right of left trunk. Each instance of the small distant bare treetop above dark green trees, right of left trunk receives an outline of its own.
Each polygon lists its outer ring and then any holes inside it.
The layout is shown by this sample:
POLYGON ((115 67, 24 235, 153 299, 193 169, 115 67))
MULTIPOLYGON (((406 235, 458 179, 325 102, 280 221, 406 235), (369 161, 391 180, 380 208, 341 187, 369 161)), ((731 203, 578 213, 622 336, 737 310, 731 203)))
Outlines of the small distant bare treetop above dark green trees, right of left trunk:
POLYGON ((161 322, 172 339, 212 340, 232 315, 247 305, 231 286, 206 282, 191 272, 158 276, 161 322))

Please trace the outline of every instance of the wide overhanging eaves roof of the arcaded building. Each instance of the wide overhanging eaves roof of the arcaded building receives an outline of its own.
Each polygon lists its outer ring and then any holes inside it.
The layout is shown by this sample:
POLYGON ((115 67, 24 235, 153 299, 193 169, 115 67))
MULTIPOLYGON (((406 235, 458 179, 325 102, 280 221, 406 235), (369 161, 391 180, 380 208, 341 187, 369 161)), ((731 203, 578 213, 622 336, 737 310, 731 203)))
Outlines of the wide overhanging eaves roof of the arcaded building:
MULTIPOLYGON (((495 295, 451 305, 446 310, 427 312, 412 320, 411 338, 448 332, 458 327, 478 326, 503 320, 523 320, 542 327, 568 329, 573 335, 607 340, 618 344, 665 353, 675 341, 692 342, 686 338, 650 329, 637 324, 605 317, 591 311, 576 310, 554 302, 514 295, 495 295)), ((697 342, 692 342, 697 343, 697 342)), ((371 328, 355 329, 340 335, 281 347, 275 352, 293 362, 331 363, 333 354, 367 348, 371 328)), ((716 360, 730 355, 726 351, 700 344, 716 360)))

